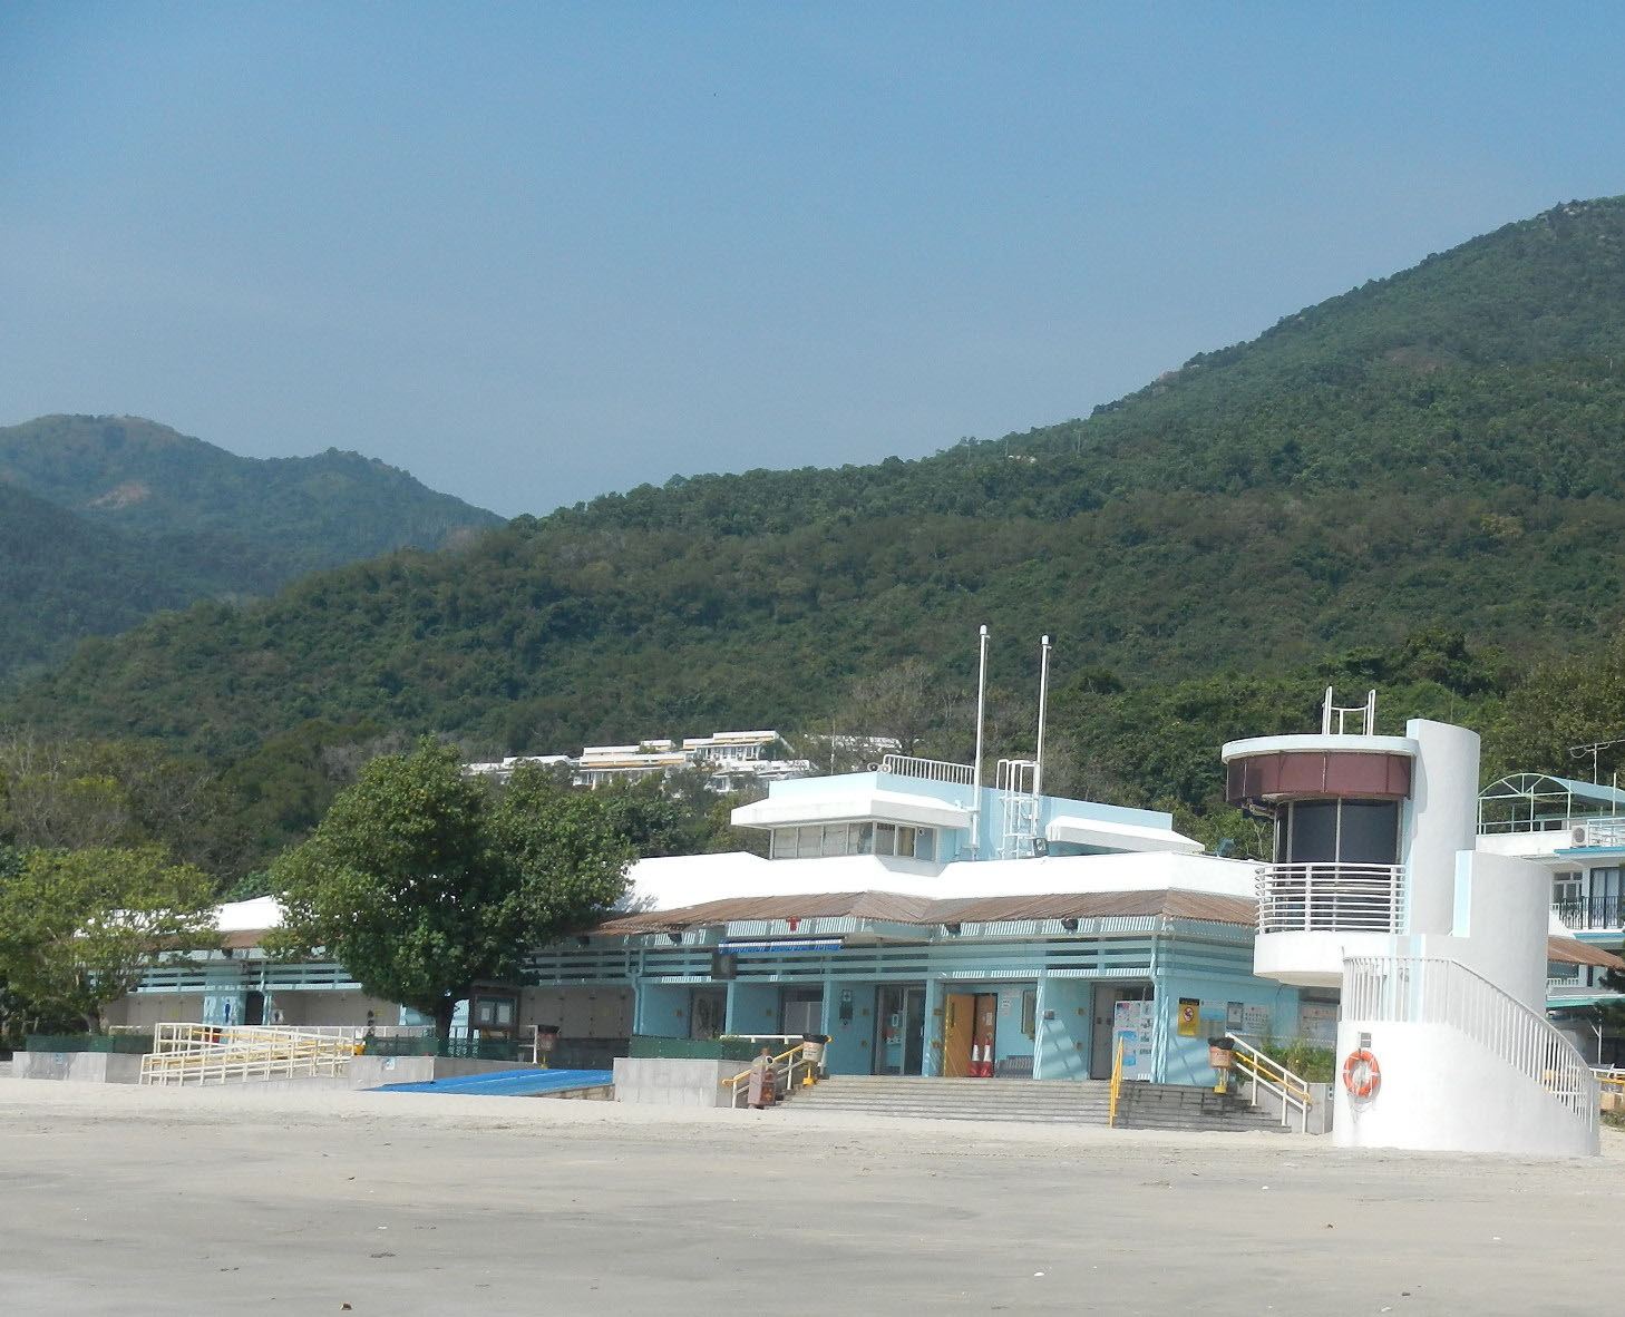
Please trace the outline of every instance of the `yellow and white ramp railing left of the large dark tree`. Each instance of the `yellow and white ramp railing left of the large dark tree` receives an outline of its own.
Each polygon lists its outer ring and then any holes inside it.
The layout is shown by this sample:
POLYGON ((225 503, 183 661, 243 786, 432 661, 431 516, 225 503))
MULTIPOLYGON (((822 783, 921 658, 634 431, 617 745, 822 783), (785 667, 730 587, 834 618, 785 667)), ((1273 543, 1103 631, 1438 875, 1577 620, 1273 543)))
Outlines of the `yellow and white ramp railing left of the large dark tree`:
POLYGON ((260 1028, 161 1023, 141 1057, 141 1083, 240 1083, 336 1075, 356 1056, 358 1030, 343 1025, 260 1028))

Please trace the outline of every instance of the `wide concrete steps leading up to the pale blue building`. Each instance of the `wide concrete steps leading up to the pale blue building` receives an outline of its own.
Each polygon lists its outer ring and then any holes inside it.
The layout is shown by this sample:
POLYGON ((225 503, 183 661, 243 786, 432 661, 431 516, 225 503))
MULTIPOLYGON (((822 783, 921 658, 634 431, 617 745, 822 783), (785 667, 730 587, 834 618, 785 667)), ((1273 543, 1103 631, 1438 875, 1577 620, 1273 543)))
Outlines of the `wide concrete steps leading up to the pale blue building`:
MULTIPOLYGON (((853 1111, 931 1121, 1022 1121, 1105 1125, 1112 1085, 1105 1080, 939 1080, 895 1075, 834 1075, 798 1090, 788 1111, 853 1111)), ((1123 1085, 1121 1129, 1279 1130, 1280 1124, 1237 1095, 1162 1083, 1123 1085)))

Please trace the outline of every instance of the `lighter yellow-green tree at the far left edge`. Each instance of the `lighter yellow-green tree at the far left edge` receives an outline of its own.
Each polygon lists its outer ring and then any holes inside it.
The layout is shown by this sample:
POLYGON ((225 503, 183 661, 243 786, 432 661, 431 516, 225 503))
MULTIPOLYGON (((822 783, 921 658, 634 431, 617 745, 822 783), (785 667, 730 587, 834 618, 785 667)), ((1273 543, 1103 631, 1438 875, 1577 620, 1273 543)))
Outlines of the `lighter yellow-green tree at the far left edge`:
POLYGON ((213 900, 210 877, 159 846, 28 851, 0 872, 0 976, 36 1012, 96 1030, 151 965, 218 939, 213 900))

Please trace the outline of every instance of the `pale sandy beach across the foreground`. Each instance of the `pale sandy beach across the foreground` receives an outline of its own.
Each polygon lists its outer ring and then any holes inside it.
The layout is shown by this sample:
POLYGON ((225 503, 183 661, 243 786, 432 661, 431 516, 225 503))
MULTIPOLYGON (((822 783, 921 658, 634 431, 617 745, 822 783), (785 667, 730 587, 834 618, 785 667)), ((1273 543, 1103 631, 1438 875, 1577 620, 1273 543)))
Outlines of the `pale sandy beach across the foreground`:
POLYGON ((1604 1156, 0 1078, 0 1312, 1594 1312, 1604 1156))

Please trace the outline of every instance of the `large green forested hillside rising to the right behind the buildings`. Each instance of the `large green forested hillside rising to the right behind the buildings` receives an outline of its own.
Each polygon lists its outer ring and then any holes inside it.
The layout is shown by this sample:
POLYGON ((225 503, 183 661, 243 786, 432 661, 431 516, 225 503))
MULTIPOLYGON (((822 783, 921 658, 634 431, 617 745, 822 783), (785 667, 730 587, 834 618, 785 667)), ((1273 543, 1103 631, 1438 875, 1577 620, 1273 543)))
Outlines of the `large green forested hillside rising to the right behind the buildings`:
POLYGON ((921 461, 644 487, 93 641, 16 713, 236 755, 301 719, 556 750, 811 726, 920 656, 1025 689, 1280 672, 1622 617, 1625 200, 1298 312, 1120 403, 921 461), (1022 646, 1016 658, 1014 646, 1022 646))

